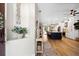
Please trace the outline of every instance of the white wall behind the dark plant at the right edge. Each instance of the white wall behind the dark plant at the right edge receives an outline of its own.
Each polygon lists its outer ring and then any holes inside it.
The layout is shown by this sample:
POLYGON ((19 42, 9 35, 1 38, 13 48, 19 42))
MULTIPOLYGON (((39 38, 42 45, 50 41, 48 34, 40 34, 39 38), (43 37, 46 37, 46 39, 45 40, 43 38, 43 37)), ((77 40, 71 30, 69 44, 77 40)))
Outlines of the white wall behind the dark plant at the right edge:
POLYGON ((76 20, 78 20, 77 16, 69 17, 68 28, 67 28, 68 32, 66 33, 66 36, 68 38, 71 38, 74 40, 78 38, 78 31, 74 28, 74 23, 76 20))

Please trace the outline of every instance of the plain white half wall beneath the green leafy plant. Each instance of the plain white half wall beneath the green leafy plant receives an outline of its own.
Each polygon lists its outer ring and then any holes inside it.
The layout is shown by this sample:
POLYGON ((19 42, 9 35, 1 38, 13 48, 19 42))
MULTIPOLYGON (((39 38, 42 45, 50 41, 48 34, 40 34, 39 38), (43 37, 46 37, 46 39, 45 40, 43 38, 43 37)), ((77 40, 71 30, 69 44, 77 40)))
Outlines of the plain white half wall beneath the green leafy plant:
POLYGON ((29 38, 6 42, 6 56, 34 56, 34 43, 29 38))

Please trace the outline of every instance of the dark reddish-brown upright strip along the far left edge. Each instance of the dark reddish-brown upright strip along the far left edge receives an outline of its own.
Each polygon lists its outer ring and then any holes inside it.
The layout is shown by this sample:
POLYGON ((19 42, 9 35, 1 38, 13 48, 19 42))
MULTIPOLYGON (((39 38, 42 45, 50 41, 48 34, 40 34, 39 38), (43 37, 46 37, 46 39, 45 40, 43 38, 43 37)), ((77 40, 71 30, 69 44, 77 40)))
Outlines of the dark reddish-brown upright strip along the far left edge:
POLYGON ((5 4, 0 3, 0 56, 5 55, 5 4))

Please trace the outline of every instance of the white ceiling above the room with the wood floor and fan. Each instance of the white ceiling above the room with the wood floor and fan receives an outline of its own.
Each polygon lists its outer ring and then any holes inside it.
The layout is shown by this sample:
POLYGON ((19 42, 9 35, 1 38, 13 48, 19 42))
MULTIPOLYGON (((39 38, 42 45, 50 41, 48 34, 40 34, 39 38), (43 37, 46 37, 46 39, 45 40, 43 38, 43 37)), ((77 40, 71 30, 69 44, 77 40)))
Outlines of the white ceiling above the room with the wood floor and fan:
POLYGON ((79 9, 78 3, 38 3, 39 18, 43 24, 53 24, 69 16, 71 9, 79 9))

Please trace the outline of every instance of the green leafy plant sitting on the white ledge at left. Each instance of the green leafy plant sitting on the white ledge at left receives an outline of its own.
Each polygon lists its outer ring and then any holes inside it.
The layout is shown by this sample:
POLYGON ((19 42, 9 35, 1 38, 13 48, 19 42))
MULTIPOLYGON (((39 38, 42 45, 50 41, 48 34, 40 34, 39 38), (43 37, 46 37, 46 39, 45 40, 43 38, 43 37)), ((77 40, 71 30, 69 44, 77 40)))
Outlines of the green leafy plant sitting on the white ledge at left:
POLYGON ((12 29, 13 32, 17 33, 17 34, 22 34, 22 38, 25 37, 25 34, 27 33, 27 28, 25 27, 19 27, 19 26, 14 26, 14 28, 12 29))

